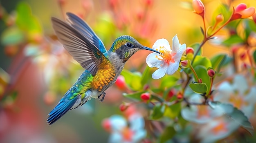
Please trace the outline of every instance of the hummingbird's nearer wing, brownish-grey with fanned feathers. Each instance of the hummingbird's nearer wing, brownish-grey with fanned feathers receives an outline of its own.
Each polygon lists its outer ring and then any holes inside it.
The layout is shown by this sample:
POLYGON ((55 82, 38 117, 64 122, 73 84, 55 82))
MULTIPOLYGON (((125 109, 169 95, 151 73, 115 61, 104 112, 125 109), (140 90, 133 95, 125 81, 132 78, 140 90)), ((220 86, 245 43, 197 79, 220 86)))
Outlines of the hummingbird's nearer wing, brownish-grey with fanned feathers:
POLYGON ((52 24, 64 48, 93 76, 97 73, 102 62, 108 62, 108 59, 91 42, 90 38, 85 37, 70 24, 57 18, 52 18, 52 24))

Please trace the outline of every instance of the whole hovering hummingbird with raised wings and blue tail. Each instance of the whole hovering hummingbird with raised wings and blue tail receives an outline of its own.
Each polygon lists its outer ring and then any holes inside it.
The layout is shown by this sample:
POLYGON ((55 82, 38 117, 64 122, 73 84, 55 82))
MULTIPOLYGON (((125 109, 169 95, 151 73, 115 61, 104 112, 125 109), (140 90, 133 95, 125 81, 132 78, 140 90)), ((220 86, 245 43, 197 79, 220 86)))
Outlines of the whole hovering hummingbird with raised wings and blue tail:
POLYGON ((85 21, 73 13, 66 14, 67 22, 52 17, 53 29, 64 48, 85 70, 48 114, 49 125, 91 98, 103 101, 104 91, 115 83, 127 60, 137 51, 144 49, 160 54, 129 35, 118 37, 107 51, 85 21))

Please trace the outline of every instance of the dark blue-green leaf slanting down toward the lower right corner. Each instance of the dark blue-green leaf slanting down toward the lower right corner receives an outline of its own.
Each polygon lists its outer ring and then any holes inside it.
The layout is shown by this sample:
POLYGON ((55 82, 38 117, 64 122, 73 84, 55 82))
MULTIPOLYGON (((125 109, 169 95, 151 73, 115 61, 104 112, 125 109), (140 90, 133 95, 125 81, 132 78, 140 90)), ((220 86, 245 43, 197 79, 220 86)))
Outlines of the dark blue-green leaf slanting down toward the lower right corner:
POLYGON ((224 110, 225 112, 224 114, 230 120, 233 120, 236 123, 238 123, 241 127, 247 130, 252 136, 254 135, 254 128, 242 111, 238 110, 231 104, 221 103, 220 106, 224 110))

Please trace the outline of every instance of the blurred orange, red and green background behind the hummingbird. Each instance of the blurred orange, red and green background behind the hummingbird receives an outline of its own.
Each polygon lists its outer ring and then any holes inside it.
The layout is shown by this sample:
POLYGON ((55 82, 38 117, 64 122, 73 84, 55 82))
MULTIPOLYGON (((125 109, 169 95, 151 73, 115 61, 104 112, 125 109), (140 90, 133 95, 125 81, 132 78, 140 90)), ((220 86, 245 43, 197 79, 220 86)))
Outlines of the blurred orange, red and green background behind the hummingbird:
MULTIPOLYGON (((187 46, 202 41, 199 15, 192 0, 0 0, 0 142, 1 143, 105 143, 108 133, 101 121, 122 114, 126 100, 116 85, 106 91, 103 102, 93 99, 46 124, 47 114, 83 72, 83 68, 57 41, 51 17, 65 20, 66 12, 83 18, 106 48, 120 35, 131 35, 152 47, 157 39, 171 42, 177 34, 187 46)), ((202 0, 206 19, 221 3, 255 0, 202 0)), ((225 37, 225 30, 220 35, 225 37)), ((143 71, 149 51, 137 52, 126 64, 130 71, 143 71)), ((216 43, 207 43, 203 55, 229 53, 216 43), (205 50, 207 49, 207 50, 205 50)))

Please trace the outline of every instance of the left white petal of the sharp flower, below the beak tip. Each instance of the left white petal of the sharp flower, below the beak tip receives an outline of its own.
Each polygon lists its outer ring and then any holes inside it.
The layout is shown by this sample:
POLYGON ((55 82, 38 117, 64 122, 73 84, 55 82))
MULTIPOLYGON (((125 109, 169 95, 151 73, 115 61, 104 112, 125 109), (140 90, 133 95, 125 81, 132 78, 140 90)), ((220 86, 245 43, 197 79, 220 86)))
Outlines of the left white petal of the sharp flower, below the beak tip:
POLYGON ((162 58, 161 56, 159 56, 158 53, 150 53, 146 58, 146 63, 150 68, 153 68, 153 67, 160 68, 160 66, 164 63, 164 61, 157 59, 156 56, 158 56, 159 58, 162 58))

